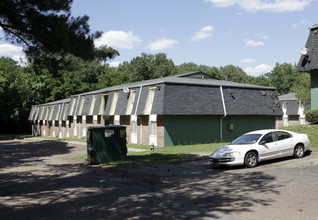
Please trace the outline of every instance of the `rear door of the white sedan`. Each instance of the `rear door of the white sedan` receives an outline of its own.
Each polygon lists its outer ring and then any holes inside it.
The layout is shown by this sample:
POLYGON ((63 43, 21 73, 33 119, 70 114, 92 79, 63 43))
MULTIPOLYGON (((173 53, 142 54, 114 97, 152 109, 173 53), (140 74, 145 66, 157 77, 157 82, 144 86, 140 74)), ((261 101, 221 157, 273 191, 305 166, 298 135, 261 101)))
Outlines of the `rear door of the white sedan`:
POLYGON ((279 148, 281 156, 293 155, 294 140, 293 136, 285 131, 275 131, 277 136, 277 146, 279 148))

